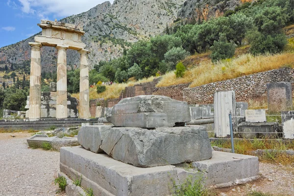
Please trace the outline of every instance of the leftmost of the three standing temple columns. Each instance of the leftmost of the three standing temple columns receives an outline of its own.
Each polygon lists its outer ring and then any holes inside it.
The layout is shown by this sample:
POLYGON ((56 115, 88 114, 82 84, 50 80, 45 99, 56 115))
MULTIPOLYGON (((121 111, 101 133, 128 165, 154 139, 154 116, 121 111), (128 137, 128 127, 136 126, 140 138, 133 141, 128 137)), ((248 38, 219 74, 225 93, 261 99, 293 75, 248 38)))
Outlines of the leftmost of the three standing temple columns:
POLYGON ((41 43, 28 43, 31 46, 31 67, 29 87, 29 119, 40 119, 41 114, 41 43))

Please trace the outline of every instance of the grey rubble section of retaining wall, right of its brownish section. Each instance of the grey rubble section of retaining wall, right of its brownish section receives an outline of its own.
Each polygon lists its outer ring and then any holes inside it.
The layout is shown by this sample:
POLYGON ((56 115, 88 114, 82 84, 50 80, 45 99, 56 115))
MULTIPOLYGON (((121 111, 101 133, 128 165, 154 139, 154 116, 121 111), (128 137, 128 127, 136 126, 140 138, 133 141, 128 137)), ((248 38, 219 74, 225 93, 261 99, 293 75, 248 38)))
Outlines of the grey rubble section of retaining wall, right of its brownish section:
POLYGON ((294 86, 294 69, 282 68, 255 73, 234 79, 183 89, 184 101, 189 104, 213 103, 214 92, 235 91, 237 101, 267 98, 267 83, 291 82, 294 86))

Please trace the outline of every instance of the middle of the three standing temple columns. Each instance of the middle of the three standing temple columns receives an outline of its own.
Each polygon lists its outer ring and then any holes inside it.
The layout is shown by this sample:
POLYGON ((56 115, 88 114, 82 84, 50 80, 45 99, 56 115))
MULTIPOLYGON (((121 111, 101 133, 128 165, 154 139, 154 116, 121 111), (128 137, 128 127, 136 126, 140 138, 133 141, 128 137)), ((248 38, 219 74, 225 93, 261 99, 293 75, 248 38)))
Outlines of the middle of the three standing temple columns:
POLYGON ((67 118, 66 47, 57 46, 56 118, 67 118))

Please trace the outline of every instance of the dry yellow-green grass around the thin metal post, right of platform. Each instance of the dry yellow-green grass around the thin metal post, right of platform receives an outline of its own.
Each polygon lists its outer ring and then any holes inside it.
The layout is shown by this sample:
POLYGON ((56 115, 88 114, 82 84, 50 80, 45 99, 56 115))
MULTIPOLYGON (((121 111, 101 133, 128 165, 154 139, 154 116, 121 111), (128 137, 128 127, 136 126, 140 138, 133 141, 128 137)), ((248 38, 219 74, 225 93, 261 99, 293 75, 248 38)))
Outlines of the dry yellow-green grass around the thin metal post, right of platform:
MULTIPOLYGON (((223 148, 231 148, 230 141, 224 142, 212 142, 212 146, 218 146, 223 148)), ((267 152, 262 156, 259 156, 261 162, 267 163, 281 163, 283 165, 294 164, 293 156, 287 155, 281 150, 294 149, 294 142, 289 141, 284 143, 281 140, 234 140, 235 153, 252 155, 253 150, 257 149, 275 149, 274 152, 267 152)))

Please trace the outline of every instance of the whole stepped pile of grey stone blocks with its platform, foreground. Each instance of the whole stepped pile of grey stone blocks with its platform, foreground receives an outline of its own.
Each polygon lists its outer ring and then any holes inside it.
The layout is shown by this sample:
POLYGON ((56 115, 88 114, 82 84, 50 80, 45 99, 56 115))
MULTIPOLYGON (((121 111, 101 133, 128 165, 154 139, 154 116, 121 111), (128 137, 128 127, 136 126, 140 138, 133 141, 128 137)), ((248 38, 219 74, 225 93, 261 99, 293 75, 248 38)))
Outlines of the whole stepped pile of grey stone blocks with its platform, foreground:
POLYGON ((172 195, 173 181, 188 177, 204 186, 226 187, 258 178, 258 158, 213 151, 208 133, 190 122, 187 102, 165 96, 122 99, 111 111, 112 125, 82 126, 82 147, 60 149, 60 173, 72 184, 103 196, 172 195), (189 168, 185 167, 189 164, 189 168))

